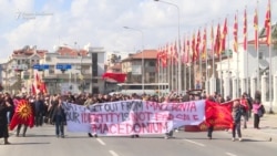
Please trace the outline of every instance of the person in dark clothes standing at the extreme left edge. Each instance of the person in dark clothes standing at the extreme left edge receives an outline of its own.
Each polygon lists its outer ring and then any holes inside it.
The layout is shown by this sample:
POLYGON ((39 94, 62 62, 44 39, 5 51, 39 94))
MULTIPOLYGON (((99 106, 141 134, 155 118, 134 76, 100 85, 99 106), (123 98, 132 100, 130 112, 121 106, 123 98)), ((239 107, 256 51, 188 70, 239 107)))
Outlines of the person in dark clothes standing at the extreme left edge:
POLYGON ((8 131, 8 117, 7 113, 12 110, 11 104, 8 101, 4 101, 0 96, 0 138, 4 138, 4 145, 10 144, 8 142, 9 131, 8 131))

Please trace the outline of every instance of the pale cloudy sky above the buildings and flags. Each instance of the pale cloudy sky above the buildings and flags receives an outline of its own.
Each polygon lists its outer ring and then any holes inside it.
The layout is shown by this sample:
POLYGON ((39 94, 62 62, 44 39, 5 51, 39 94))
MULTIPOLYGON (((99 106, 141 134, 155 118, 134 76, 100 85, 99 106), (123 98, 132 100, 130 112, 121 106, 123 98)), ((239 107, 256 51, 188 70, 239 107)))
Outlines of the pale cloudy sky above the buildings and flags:
MULTIPOLYGON (((24 45, 53 52, 59 44, 73 48, 103 46, 106 51, 134 52, 157 49, 178 37, 228 19, 233 38, 238 12, 239 37, 247 8, 248 37, 253 39, 253 17, 258 6, 259 25, 264 25, 268 0, 0 0, 0 62, 24 45), (35 15, 34 15, 35 14, 35 15), (123 29, 129 27, 131 29, 123 29), (142 38, 143 34, 143 38, 142 38)), ((277 1, 271 0, 273 23, 277 1)))

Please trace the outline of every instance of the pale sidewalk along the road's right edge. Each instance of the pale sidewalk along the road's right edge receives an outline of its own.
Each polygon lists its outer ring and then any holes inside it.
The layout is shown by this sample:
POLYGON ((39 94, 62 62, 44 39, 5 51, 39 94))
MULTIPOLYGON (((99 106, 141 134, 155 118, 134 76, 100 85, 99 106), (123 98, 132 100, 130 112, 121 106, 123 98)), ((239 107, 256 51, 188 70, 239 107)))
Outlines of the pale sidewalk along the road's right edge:
POLYGON ((243 136, 277 143, 277 114, 265 114, 260 118, 259 127, 260 129, 254 128, 254 117, 252 116, 248 119, 247 128, 242 128, 243 136))

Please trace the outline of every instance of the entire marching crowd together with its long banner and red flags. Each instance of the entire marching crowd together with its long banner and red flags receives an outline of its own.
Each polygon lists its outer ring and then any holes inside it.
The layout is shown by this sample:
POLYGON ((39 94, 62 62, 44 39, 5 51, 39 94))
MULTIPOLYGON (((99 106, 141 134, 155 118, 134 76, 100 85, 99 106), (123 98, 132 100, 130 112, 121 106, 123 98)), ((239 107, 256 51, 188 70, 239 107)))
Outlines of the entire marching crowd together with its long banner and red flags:
MULTIPOLYGON (((226 101, 219 94, 203 92, 177 95, 124 95, 124 94, 0 94, 0 137, 8 142, 8 128, 16 129, 16 136, 28 137, 28 128, 55 127, 57 137, 68 132, 98 136, 164 135, 172 138, 174 129, 185 132, 207 132, 212 139, 214 131, 232 129, 232 141, 236 133, 242 141, 240 122, 245 125, 253 107, 254 127, 259 128, 259 117, 265 113, 257 92, 253 105, 248 95, 240 100, 226 101), (12 116, 10 116, 12 114, 12 116), (247 119, 240 119, 247 114, 247 119)), ((245 128, 247 128, 245 126, 245 128)))

